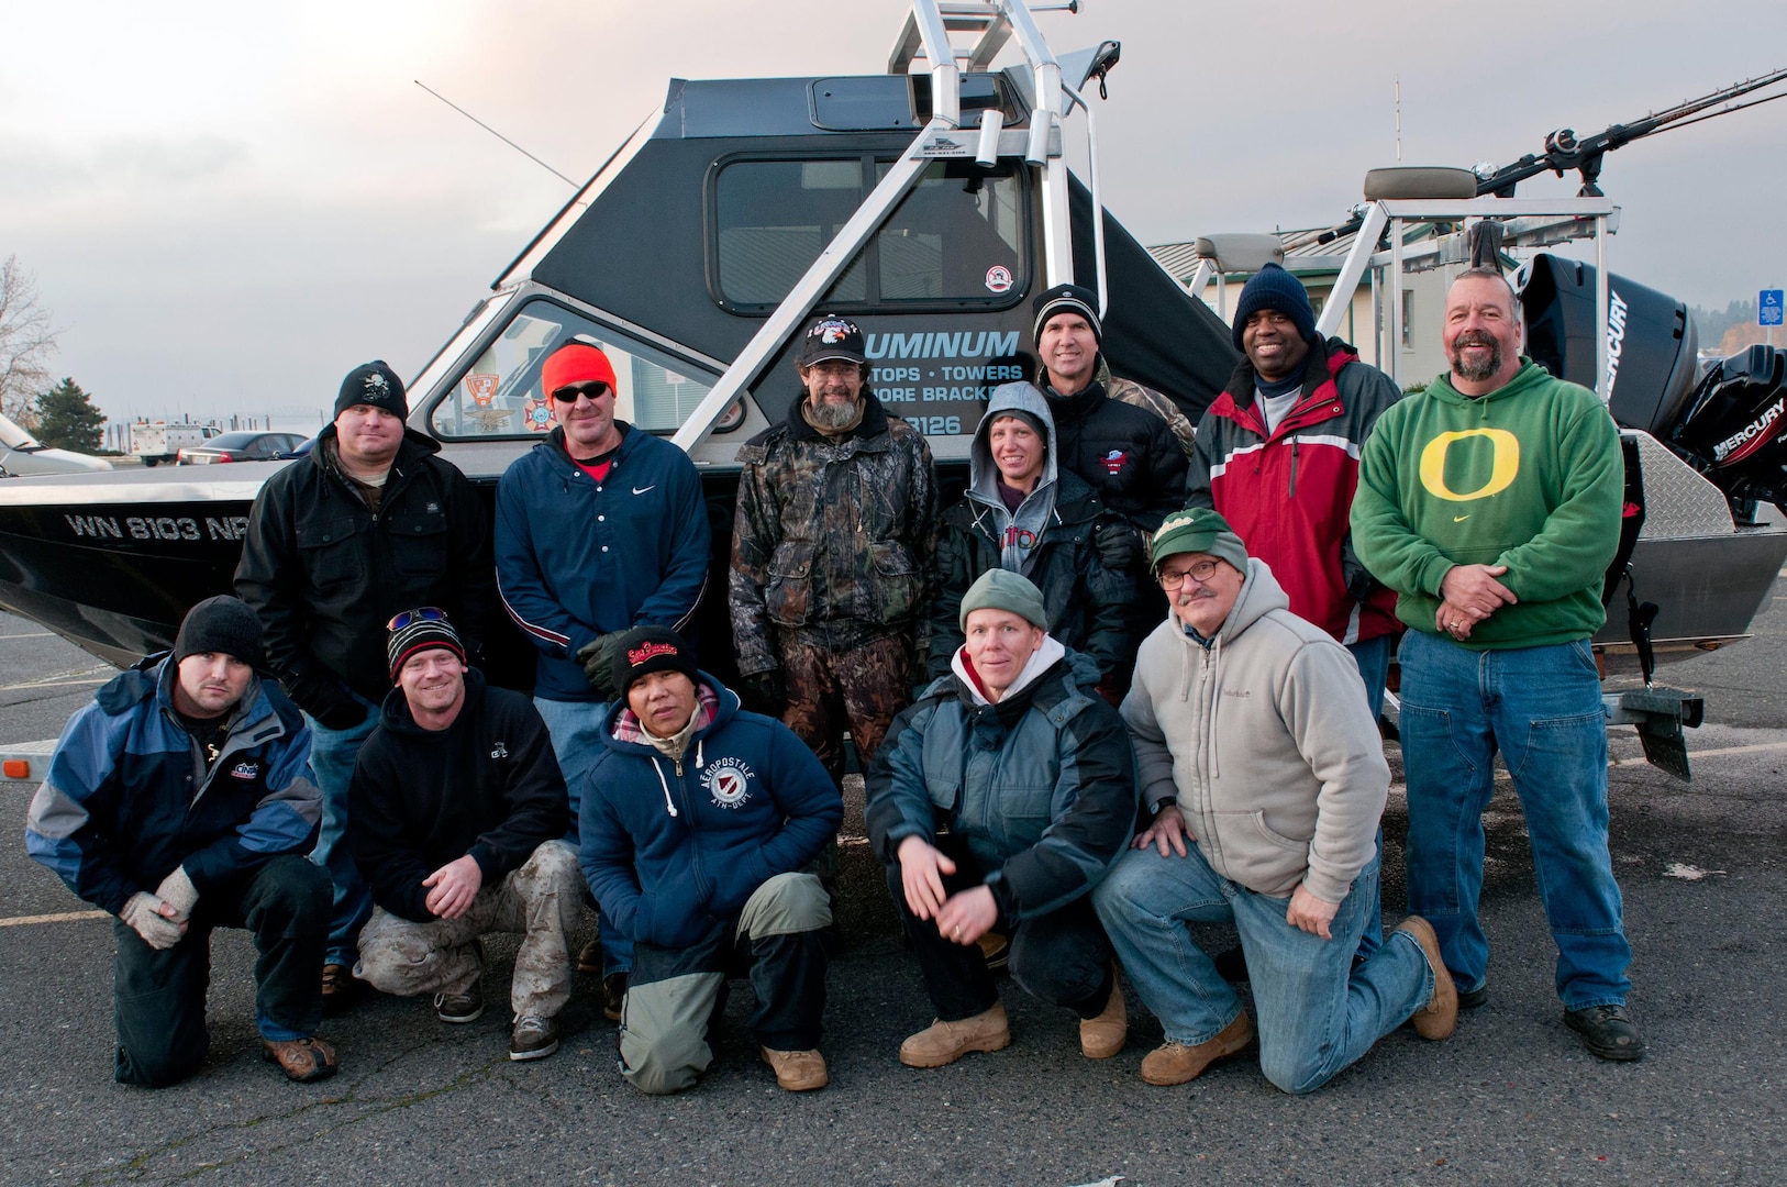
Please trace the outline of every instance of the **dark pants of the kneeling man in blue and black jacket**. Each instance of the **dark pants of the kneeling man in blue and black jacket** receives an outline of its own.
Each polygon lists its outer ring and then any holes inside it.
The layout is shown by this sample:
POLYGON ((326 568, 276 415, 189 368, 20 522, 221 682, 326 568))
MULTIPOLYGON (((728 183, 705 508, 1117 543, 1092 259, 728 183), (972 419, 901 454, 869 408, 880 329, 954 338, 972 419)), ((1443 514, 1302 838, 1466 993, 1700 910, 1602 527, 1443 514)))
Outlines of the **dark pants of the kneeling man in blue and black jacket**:
POLYGON ((329 874, 284 854, 200 896, 186 937, 173 947, 154 949, 127 922, 113 921, 118 1083, 163 1089, 206 1060, 213 928, 247 928, 254 935, 261 1037, 289 1042, 316 1033, 323 1017, 329 874))

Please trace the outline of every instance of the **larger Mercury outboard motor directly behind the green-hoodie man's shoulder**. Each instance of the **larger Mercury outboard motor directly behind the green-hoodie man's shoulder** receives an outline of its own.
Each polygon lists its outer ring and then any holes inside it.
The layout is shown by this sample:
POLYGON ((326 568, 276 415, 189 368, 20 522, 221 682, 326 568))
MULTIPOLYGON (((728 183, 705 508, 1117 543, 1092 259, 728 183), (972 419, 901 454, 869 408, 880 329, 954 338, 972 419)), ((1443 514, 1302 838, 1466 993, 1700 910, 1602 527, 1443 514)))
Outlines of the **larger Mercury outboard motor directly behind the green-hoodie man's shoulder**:
MULTIPOLYGON (((1687 306, 1610 277, 1607 365, 1614 420, 1667 442, 1694 390, 1698 359, 1687 306)), ((1526 354, 1558 379, 1594 388, 1594 266, 1540 252, 1514 282, 1526 311, 1526 354)))

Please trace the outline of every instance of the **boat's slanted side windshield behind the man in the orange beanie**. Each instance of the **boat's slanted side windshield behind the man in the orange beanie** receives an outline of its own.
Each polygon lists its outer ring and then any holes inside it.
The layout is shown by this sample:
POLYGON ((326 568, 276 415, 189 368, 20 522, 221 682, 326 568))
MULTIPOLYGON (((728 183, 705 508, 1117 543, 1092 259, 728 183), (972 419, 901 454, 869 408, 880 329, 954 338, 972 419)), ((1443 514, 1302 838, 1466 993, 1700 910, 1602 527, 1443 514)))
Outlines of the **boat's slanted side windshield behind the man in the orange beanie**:
MULTIPOLYGON (((559 345, 588 341, 615 366, 615 417, 647 433, 675 433, 713 388, 715 375, 599 325, 556 300, 533 299, 497 334, 447 397, 429 425, 443 440, 540 436, 558 425, 552 400, 540 390, 540 365, 559 345)), ((736 406, 734 406, 736 408, 736 406)), ((731 425, 742 417, 731 415, 731 425)), ((722 418, 727 420, 727 418, 722 418)))

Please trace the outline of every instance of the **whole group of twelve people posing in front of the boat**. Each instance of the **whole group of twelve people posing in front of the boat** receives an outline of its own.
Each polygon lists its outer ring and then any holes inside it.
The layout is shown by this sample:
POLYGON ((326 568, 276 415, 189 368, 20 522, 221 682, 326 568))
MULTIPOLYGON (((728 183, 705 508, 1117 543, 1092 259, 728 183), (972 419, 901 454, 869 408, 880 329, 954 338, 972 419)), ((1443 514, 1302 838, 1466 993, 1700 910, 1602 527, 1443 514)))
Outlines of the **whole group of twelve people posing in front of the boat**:
POLYGON ((1449 374, 1399 399, 1269 265, 1196 433, 1112 375, 1094 293, 1035 313, 1036 383, 992 391, 951 506, 868 390, 861 331, 806 327, 799 399, 738 454, 736 688, 697 660, 695 467, 615 417, 597 343, 543 359, 558 427, 493 526, 406 429, 399 377, 348 374, 256 501, 236 597, 75 713, 30 806, 30 854, 116 917, 116 1078, 202 1064, 207 937, 238 926, 293 1080, 336 1071, 318 1030, 363 985, 481 1017, 481 937, 513 931, 511 1058, 558 1049, 595 972, 620 1073, 681 1090, 749 976, 776 1080, 824 1087, 845 737, 935 1012, 908 1065, 1010 1044, 999 967, 1074 1010, 1088 1058, 1124 1048, 1128 978, 1165 1031, 1154 1085, 1258 1040, 1308 1092, 1403 1023, 1449 1037, 1487 1001, 1498 751, 1565 1023, 1639 1058, 1589 647, 1617 431, 1521 356, 1508 284, 1453 282, 1449 374), (499 604, 536 645, 533 701, 481 672, 499 604), (1385 933, 1399 633, 1414 913, 1385 933), (1194 940, 1217 922, 1238 949, 1194 940))

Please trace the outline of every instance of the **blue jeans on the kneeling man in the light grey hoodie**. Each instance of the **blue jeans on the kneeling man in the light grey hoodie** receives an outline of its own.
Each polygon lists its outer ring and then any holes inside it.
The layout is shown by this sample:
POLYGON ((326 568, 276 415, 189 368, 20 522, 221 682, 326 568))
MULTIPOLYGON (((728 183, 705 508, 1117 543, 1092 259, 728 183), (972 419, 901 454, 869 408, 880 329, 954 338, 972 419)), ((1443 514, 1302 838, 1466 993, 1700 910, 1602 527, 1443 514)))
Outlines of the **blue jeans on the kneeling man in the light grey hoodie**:
POLYGON ((1260 1071, 1285 1092, 1313 1092, 1433 998, 1415 937, 1396 931, 1353 964, 1378 910, 1378 862, 1353 880, 1328 924, 1331 940, 1285 921, 1288 897, 1256 894, 1187 856, 1131 849, 1092 892, 1117 958, 1167 1039, 1196 1046, 1240 1017, 1240 998, 1192 940, 1188 922, 1233 922, 1247 955, 1260 1071))

